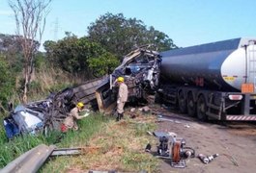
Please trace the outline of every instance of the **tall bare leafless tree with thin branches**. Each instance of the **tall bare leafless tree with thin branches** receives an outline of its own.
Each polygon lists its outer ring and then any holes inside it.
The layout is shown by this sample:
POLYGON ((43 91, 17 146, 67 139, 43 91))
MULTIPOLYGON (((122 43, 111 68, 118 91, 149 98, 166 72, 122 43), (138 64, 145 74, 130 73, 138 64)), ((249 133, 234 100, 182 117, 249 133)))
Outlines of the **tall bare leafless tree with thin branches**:
POLYGON ((34 56, 42 40, 48 6, 51 0, 9 0, 14 11, 16 33, 24 57, 24 85, 22 101, 27 102, 28 85, 33 73, 34 56))

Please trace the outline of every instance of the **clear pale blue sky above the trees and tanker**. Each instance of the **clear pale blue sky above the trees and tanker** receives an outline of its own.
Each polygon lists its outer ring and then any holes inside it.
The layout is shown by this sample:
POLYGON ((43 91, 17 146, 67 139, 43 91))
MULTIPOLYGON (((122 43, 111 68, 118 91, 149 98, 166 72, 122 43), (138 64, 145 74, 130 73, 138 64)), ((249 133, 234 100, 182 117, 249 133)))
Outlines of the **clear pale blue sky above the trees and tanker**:
MULTIPOLYGON (((106 12, 142 20, 179 47, 255 38, 255 7, 255 0, 53 0, 42 43, 62 39, 65 32, 87 36, 87 27, 106 12)), ((15 34, 14 12, 8 0, 0 0, 0 33, 15 34)))

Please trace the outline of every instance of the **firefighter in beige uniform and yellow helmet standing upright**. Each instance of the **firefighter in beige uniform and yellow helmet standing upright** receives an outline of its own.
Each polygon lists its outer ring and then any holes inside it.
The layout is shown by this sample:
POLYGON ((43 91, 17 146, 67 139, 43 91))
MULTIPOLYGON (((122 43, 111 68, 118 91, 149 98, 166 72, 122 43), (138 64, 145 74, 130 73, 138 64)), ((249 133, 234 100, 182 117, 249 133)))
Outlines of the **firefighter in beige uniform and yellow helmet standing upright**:
POLYGON ((124 107, 128 101, 128 86, 125 84, 123 77, 117 78, 117 85, 119 86, 118 97, 117 97, 117 119, 119 121, 124 116, 124 107))

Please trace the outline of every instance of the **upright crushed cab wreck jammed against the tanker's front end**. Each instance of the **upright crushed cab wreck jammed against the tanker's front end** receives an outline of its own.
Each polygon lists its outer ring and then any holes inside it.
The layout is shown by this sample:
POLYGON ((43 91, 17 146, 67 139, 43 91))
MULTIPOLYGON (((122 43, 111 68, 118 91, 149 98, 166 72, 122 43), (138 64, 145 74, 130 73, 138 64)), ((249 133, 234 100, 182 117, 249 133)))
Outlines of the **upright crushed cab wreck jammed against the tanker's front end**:
POLYGON ((128 86, 128 102, 146 101, 158 86, 161 57, 150 45, 141 46, 124 57, 121 65, 96 89, 99 110, 109 113, 116 107, 118 87, 115 80, 122 76, 128 86))

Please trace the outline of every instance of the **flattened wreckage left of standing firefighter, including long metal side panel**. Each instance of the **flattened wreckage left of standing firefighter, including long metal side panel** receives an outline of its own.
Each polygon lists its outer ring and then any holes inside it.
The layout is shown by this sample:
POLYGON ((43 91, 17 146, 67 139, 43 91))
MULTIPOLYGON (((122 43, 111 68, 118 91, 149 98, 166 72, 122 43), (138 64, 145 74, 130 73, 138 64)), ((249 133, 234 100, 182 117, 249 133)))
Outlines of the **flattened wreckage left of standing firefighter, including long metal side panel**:
POLYGON ((88 81, 80 86, 65 88, 41 101, 17 105, 4 119, 6 136, 12 139, 21 134, 35 135, 61 130, 61 124, 78 101, 96 110, 96 87, 102 78, 88 81))

